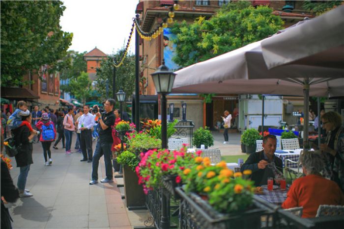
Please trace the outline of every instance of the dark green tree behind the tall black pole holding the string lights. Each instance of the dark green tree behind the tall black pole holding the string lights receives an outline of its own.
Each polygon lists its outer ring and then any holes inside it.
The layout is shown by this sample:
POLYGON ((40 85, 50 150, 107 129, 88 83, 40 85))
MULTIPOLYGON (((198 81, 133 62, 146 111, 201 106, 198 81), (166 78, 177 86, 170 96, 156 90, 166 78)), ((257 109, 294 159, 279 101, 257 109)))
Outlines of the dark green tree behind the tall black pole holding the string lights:
MULTIPOLYGON (((100 64, 100 68, 97 69, 96 85, 95 89, 100 95, 100 101, 106 98, 106 85, 108 84, 109 94, 108 96, 113 98, 113 70, 114 70, 114 57, 118 60, 122 55, 123 50, 119 50, 115 55, 111 55, 109 58, 103 60, 100 64)), ((127 98, 131 96, 135 90, 135 56, 128 54, 123 64, 116 68, 115 76, 115 93, 122 88, 126 93, 127 98)))

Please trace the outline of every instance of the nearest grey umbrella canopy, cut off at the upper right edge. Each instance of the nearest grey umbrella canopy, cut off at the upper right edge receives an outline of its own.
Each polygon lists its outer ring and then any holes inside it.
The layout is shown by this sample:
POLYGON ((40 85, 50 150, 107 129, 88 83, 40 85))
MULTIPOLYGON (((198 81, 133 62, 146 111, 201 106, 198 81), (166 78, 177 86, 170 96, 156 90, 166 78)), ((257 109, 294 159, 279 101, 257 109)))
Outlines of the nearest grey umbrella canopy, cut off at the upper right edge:
POLYGON ((302 64, 344 68, 344 5, 266 39, 261 49, 269 69, 302 64))

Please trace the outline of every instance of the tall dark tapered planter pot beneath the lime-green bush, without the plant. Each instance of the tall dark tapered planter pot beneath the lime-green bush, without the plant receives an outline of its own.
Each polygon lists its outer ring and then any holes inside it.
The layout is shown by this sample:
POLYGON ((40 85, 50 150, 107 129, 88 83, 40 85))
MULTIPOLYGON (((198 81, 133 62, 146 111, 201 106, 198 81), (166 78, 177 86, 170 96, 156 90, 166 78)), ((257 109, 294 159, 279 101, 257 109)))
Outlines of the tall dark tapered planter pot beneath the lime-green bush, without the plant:
POLYGON ((145 195, 139 178, 128 166, 123 166, 124 194, 128 209, 142 208, 145 205, 145 195))

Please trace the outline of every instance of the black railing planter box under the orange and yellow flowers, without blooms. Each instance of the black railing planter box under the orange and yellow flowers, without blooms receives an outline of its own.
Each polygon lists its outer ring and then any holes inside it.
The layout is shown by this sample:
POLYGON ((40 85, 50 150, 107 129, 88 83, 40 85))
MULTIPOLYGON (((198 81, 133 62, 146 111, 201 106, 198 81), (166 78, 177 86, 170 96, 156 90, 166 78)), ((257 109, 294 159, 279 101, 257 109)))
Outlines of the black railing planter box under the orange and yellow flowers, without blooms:
POLYGON ((224 214, 217 212, 195 193, 186 194, 180 187, 176 188, 176 193, 180 195, 183 202, 180 209, 182 213, 180 223, 186 225, 182 225, 182 228, 260 228, 261 217, 273 215, 273 211, 259 204, 255 199, 253 205, 247 210, 224 214))

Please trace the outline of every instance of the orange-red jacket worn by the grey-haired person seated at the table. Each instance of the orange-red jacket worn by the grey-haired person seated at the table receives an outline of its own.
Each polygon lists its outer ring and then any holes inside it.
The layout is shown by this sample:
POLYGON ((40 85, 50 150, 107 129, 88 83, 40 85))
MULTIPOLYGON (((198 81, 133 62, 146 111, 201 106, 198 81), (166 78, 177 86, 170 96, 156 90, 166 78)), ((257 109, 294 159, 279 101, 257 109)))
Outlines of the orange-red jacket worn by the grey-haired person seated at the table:
POLYGON ((282 207, 303 206, 302 218, 312 218, 321 204, 344 205, 344 195, 334 181, 312 174, 291 184, 282 207))

